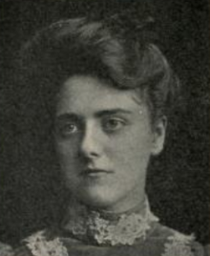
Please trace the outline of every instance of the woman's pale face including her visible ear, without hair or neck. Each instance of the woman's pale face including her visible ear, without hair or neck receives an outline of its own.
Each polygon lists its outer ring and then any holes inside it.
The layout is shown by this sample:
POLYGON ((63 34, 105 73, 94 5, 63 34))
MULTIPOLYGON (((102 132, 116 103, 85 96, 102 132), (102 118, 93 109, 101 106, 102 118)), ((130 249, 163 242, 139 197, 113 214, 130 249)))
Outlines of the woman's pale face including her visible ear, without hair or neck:
POLYGON ((151 127, 146 104, 86 75, 63 84, 55 113, 55 145, 68 188, 77 200, 125 211, 144 198, 151 154, 164 141, 164 122, 151 127))

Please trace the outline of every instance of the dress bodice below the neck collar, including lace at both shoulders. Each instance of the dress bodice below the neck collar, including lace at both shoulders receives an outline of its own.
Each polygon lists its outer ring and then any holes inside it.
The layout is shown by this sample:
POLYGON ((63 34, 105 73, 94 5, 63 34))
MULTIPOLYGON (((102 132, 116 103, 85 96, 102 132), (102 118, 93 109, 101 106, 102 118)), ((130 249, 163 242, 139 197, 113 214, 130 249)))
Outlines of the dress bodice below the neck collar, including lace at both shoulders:
POLYGON ((42 230, 16 250, 15 256, 202 256, 199 243, 163 226, 153 224, 145 239, 133 245, 93 245, 82 242, 66 231, 52 234, 42 230))

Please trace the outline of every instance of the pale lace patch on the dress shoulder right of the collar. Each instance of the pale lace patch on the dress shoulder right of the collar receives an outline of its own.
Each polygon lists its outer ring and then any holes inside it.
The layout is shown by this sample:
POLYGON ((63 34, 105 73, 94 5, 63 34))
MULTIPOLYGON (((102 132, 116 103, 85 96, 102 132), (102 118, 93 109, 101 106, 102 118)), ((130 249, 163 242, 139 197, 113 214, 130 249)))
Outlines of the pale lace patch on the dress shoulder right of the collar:
POLYGON ((168 242, 164 245, 165 251, 161 256, 194 256, 191 244, 195 240, 194 235, 186 236, 175 232, 168 237, 168 242))

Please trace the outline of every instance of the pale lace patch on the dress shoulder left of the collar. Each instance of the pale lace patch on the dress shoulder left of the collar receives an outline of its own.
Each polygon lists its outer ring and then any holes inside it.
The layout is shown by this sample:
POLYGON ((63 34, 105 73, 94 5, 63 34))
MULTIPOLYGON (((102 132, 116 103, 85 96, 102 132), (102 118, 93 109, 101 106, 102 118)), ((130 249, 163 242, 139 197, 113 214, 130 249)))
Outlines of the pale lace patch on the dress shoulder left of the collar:
POLYGON ((24 240, 33 256, 68 256, 67 248, 59 238, 47 241, 45 231, 39 231, 24 240))

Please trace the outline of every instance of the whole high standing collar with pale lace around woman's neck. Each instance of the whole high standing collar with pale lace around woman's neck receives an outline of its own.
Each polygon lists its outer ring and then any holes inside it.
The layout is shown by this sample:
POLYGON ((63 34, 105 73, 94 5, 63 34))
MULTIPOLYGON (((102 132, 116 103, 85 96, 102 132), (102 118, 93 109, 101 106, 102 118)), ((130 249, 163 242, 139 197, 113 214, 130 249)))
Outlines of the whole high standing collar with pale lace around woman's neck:
POLYGON ((63 224, 79 240, 96 245, 134 245, 145 240, 147 231, 158 218, 151 212, 148 200, 122 214, 110 214, 71 207, 68 221, 63 224), (143 214, 142 214, 143 208, 143 214))

